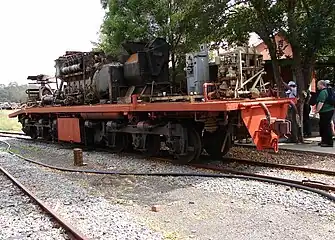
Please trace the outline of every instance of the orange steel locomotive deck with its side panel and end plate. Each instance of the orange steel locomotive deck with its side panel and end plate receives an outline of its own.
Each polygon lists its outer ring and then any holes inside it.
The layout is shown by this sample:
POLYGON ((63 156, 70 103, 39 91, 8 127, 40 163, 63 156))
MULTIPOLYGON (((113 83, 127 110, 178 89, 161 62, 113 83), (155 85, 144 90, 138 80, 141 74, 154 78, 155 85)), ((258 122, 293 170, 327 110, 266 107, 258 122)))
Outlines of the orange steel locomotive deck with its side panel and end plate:
MULTIPOLYGON (((132 96, 131 104, 32 107, 14 112, 9 117, 16 117, 20 114, 79 114, 84 119, 116 119, 135 112, 196 114, 197 112, 219 113, 239 110, 257 149, 273 148, 278 151, 278 136, 271 124, 276 119, 285 119, 291 101, 292 99, 288 98, 268 97, 252 100, 141 103, 137 101, 136 96, 132 96)), ((63 141, 80 142, 79 119, 58 118, 58 135, 63 141)))

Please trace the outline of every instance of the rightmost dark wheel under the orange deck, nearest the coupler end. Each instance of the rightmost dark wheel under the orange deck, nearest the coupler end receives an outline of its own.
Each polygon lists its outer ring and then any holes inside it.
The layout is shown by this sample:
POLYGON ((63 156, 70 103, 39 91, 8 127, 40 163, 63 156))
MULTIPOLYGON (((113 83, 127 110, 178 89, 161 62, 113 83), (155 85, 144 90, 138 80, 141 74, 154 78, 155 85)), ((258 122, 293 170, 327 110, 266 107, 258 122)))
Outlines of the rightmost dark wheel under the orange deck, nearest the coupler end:
POLYGON ((215 159, 221 159, 224 157, 230 150, 232 146, 232 140, 230 136, 227 136, 227 130, 216 131, 214 133, 204 132, 203 142, 204 149, 206 152, 215 159), (221 152, 222 145, 226 138, 226 144, 221 152))

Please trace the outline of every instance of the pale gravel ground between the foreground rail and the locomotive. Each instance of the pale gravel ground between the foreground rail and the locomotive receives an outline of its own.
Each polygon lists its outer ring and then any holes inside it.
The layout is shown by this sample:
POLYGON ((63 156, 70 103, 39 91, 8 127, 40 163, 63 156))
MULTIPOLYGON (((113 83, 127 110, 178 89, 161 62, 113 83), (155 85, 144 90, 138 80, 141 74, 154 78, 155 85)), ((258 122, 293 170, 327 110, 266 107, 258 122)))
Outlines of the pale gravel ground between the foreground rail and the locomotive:
MULTIPOLYGON (((20 140, 10 142, 19 154, 73 167, 71 149, 20 140)), ((238 179, 68 174, 36 167, 5 153, 3 156, 1 164, 11 168, 21 181, 30 182, 42 199, 93 239, 130 236, 129 239, 327 240, 335 235, 333 202, 285 186, 238 179), (151 211, 152 205, 158 206, 157 212, 151 211), (129 228, 116 235, 125 226, 129 228)), ((84 152, 84 161, 88 169, 201 172, 187 166, 108 153, 84 152)), ((251 170, 300 180, 311 177, 268 168, 251 170)), ((323 177, 320 176, 322 181, 332 180, 323 177)))

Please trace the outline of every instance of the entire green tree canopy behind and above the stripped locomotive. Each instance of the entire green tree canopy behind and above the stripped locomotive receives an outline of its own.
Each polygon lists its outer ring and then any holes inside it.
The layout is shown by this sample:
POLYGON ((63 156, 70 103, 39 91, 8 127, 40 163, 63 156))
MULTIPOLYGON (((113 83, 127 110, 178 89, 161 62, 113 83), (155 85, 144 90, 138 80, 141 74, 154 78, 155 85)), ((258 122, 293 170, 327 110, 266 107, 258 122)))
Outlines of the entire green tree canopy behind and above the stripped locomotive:
MULTIPOLYGON (((257 33, 267 45, 280 86, 283 54, 280 33, 291 44, 300 90, 311 80, 316 58, 334 53, 335 8, 332 0, 101 0, 106 15, 100 47, 117 53, 125 40, 165 37, 171 45, 173 72, 184 68, 184 54, 200 43, 245 44, 257 33)), ((172 75, 175 75, 173 73, 172 75)))

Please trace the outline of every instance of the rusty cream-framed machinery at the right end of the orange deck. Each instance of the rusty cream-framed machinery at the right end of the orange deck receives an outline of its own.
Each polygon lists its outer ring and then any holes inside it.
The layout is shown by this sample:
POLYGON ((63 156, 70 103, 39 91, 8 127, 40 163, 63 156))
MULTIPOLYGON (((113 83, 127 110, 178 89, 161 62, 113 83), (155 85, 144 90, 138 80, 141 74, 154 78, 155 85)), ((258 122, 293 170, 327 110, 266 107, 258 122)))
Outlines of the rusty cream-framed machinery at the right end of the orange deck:
MULTIPOLYGON (((265 74, 262 55, 250 47, 236 47, 215 58, 218 75, 210 99, 258 98, 269 96, 269 82, 264 82, 265 74)), ((213 83, 213 82, 212 82, 213 83)), ((206 86, 207 88, 210 85, 206 86)), ((207 95, 207 94, 206 94, 207 95)))

